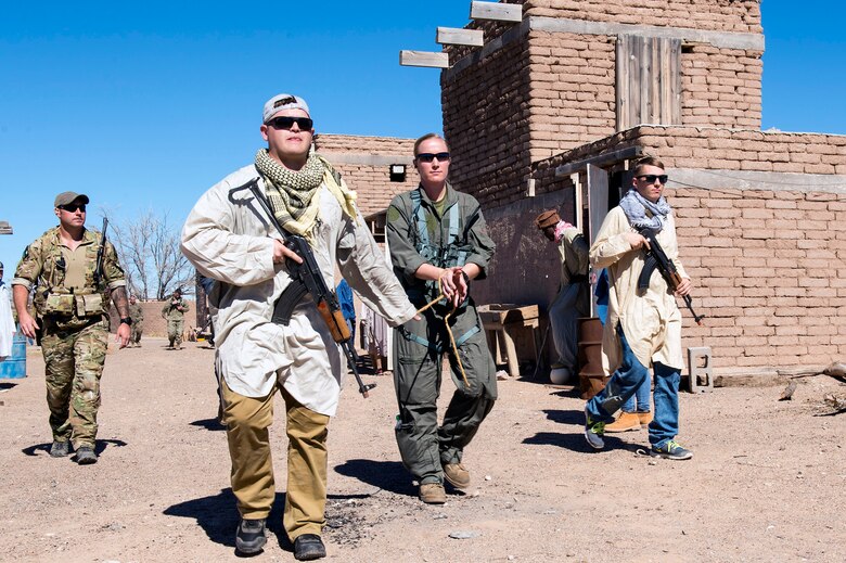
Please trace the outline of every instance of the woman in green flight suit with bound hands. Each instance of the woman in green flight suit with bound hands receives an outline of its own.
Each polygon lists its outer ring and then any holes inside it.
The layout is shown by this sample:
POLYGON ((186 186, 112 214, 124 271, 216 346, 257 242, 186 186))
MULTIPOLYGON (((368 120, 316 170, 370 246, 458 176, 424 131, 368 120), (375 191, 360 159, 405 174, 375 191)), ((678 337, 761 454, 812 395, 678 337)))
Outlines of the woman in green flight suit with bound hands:
POLYGON ((418 139, 414 166, 420 185, 394 197, 387 212, 394 272, 419 309, 441 292, 446 298, 426 309, 422 320, 406 322, 394 338, 396 438, 402 463, 420 483, 420 499, 437 504, 446 501, 445 478, 457 488, 470 485, 463 451, 497 398, 493 359, 470 297, 470 280, 486 276, 495 244, 476 199, 447 182, 444 139, 434 133, 418 139), (457 389, 438 425, 445 354, 457 389))

